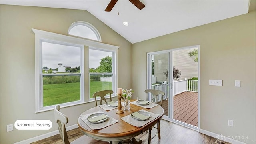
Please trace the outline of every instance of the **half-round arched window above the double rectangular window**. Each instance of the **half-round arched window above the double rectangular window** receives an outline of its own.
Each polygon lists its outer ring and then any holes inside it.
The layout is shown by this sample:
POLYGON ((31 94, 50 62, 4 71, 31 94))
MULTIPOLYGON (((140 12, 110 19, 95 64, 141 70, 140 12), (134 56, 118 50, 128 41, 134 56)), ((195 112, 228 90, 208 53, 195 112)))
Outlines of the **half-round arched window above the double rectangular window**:
POLYGON ((100 33, 88 22, 74 22, 69 27, 68 34, 101 42, 100 33))

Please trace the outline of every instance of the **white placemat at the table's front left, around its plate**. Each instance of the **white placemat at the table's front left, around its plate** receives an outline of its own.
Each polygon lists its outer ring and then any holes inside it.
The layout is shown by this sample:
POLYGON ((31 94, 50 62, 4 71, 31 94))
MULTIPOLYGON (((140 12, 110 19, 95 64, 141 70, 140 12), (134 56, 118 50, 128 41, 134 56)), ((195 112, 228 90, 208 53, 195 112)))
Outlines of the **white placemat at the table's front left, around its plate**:
POLYGON ((102 112, 101 110, 99 110, 98 112, 93 112, 93 113, 90 113, 90 114, 85 114, 85 115, 81 115, 80 118, 92 129, 92 130, 97 130, 97 129, 102 129, 102 128, 105 128, 107 126, 110 126, 112 124, 115 124, 116 122, 118 122, 118 120, 114 119, 114 118, 111 118, 109 116, 108 120, 106 120, 105 122, 102 122, 102 123, 98 123, 98 124, 93 124, 91 122, 89 122, 87 120, 87 117, 90 116, 91 114, 96 114, 96 113, 104 113, 102 112))

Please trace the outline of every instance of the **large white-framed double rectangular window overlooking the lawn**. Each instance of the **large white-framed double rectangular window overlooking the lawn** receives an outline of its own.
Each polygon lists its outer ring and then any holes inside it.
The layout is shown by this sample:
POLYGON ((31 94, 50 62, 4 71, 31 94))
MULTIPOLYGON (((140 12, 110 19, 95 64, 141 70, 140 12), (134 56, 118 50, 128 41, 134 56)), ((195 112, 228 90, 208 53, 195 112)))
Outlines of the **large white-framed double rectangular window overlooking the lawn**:
POLYGON ((73 36, 32 29, 35 33, 35 112, 89 102, 93 79, 103 78, 96 84, 99 90, 117 88, 118 46, 73 36), (96 53, 96 55, 95 55, 96 53), (96 57, 94 57, 96 56, 96 57), (107 62, 112 60, 112 62, 107 62), (102 68, 99 60, 109 64, 102 68), (94 63, 96 62, 96 63, 94 63), (89 73, 90 66, 97 73, 89 73), (99 76, 100 75, 100 76, 99 76))

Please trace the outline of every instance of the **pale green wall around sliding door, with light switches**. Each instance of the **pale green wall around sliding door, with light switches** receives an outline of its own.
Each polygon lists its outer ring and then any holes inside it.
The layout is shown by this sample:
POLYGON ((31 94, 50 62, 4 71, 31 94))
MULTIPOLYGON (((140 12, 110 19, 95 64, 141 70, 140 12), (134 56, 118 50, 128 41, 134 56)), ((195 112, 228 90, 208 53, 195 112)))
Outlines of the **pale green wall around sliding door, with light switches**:
POLYGON ((134 95, 146 98, 147 52, 200 45, 200 132, 255 143, 255 10, 132 45, 134 95), (223 86, 209 86, 209 79, 223 86), (241 80, 241 87, 235 87, 241 80), (234 120, 234 127, 228 126, 234 120), (248 136, 248 139, 238 138, 248 136))

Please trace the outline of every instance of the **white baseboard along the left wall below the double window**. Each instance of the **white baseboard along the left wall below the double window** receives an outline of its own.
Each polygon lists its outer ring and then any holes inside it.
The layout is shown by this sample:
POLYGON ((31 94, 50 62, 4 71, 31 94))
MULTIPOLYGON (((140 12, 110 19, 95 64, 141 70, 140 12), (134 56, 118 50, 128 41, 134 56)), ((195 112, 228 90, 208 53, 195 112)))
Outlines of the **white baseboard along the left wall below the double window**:
MULTIPOLYGON (((68 131, 68 130, 72 130, 72 129, 74 129, 74 128, 78 128, 78 125, 77 125, 77 124, 74 124, 74 125, 72 125, 72 126, 68 126, 68 127, 66 127, 66 130, 68 131)), ((42 135, 36 136, 36 137, 34 137, 34 138, 29 138, 29 139, 26 139, 26 140, 22 140, 22 141, 20 141, 20 142, 14 143, 14 144, 30 144, 30 143, 32 143, 32 142, 36 142, 36 141, 38 141, 38 140, 42 140, 42 139, 44 139, 44 138, 48 138, 48 137, 54 136, 54 135, 56 135, 56 134, 59 134, 59 130, 54 130, 54 131, 52 131, 52 132, 48 132, 48 133, 46 133, 46 134, 42 134, 42 135)))

